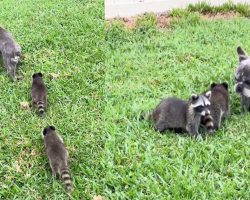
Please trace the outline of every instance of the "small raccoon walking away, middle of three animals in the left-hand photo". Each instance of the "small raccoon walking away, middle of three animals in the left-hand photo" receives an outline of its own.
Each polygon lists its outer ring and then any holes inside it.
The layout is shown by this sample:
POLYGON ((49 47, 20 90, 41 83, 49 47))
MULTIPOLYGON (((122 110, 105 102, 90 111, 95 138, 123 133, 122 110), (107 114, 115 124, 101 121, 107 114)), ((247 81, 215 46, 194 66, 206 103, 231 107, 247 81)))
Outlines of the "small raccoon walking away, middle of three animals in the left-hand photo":
POLYGON ((40 116, 44 115, 47 106, 47 88, 42 77, 41 72, 33 74, 31 86, 32 104, 37 107, 40 116))

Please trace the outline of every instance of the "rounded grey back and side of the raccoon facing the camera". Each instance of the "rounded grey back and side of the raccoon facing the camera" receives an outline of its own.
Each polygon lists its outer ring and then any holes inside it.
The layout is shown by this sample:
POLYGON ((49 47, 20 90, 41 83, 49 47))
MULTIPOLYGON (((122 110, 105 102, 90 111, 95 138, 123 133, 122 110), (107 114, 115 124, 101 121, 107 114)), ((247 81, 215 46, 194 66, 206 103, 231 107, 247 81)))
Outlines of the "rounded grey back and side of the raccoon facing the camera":
POLYGON ((173 128, 183 127, 186 124, 187 107, 187 101, 175 97, 164 99, 153 111, 152 119, 155 122, 168 121, 173 125, 173 128))

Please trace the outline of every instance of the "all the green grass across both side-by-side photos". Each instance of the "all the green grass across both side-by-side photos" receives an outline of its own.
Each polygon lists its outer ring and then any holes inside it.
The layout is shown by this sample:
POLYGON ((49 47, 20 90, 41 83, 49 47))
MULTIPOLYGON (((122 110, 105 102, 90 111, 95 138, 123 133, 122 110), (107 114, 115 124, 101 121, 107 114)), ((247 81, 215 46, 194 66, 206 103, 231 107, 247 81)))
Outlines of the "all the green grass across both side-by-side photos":
POLYGON ((203 21, 196 10, 168 29, 146 15, 104 33, 102 1, 20 2, 0 2, 0 24, 23 52, 21 81, 0 68, 0 199, 68 199, 44 152, 50 124, 69 149, 71 199, 248 199, 250 115, 240 115, 232 77, 236 47, 250 53, 249 20, 203 21), (44 119, 19 107, 38 71, 49 89, 44 119), (229 82, 232 109, 215 136, 161 135, 139 120, 161 98, 187 99, 213 81, 229 82))

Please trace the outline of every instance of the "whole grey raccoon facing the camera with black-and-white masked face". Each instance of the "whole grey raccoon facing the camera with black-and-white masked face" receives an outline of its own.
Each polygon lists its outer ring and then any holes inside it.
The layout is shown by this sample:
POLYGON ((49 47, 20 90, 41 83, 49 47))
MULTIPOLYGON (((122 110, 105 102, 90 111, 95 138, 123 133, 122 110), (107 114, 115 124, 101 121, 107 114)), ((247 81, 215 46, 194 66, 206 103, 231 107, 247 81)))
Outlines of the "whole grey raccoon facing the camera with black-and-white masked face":
POLYGON ((209 95, 193 94, 188 101, 174 97, 161 101, 149 116, 155 123, 155 130, 163 132, 166 129, 181 129, 191 136, 197 136, 201 116, 210 114, 209 95))

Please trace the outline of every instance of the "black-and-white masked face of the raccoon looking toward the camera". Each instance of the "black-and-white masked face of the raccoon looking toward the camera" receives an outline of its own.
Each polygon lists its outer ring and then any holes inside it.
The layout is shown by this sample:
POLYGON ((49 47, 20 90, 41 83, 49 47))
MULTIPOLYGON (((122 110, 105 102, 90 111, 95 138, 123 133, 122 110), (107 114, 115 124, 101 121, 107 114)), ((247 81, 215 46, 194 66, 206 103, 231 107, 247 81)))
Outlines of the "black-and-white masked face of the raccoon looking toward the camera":
POLYGON ((210 98, 211 93, 206 93, 205 95, 192 95, 191 106, 193 107, 195 113, 200 116, 206 116, 210 114, 210 98))

